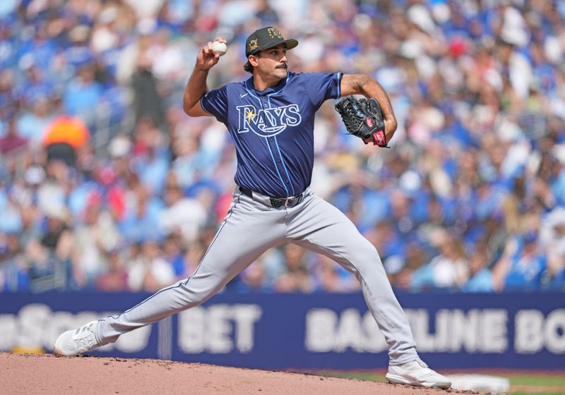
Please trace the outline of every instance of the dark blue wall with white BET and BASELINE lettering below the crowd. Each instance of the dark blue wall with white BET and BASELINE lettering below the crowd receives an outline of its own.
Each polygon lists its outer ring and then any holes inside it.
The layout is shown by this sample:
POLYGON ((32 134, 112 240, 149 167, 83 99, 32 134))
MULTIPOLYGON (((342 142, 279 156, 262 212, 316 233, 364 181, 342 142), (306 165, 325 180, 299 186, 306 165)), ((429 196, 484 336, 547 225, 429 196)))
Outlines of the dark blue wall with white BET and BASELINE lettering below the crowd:
MULTIPOLYGON (((0 351, 52 351, 66 329, 143 293, 0 293, 0 351)), ((564 293, 400 293, 422 358, 436 368, 565 369, 564 293)), ((272 369, 386 367, 361 293, 220 293, 91 352, 272 369)))

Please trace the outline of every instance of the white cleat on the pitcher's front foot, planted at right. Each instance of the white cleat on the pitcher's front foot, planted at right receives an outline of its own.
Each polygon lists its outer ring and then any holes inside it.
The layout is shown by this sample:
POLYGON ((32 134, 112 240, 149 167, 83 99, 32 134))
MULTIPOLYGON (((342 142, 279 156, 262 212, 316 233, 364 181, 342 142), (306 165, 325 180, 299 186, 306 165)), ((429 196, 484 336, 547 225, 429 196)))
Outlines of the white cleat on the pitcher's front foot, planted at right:
POLYGON ((451 381, 430 369, 420 358, 403 365, 388 365, 386 379, 394 384, 410 384, 418 387, 449 388, 451 381))

